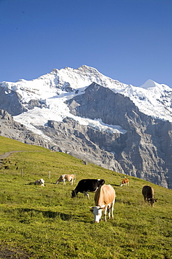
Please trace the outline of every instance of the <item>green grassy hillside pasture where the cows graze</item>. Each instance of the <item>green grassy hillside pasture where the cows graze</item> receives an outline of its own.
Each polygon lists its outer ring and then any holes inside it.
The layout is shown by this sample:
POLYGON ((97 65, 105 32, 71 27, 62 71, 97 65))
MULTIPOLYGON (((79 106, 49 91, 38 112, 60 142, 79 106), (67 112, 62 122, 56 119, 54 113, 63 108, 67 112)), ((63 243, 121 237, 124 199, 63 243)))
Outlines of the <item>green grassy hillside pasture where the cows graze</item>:
POLYGON ((172 258, 172 190, 130 176, 130 186, 120 187, 117 172, 0 137, 0 154, 8 151, 25 152, 0 167, 0 258, 172 258), (74 173, 74 186, 55 184, 61 174, 74 173), (40 178, 45 187, 32 184, 40 178), (93 223, 93 193, 90 200, 81 193, 71 198, 86 178, 114 187, 114 220, 93 223), (143 202, 147 184, 155 189, 155 207, 143 202))

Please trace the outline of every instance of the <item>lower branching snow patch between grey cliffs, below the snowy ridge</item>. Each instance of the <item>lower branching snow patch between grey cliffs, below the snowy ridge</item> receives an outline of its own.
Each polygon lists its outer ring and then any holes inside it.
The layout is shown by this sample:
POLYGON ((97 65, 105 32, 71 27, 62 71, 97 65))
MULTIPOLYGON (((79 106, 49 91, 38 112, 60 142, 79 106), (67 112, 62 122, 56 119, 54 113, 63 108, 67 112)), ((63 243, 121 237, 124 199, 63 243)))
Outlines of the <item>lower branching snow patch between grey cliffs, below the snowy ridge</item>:
MULTIPOLYGON (((83 88, 81 88, 81 92, 83 88)), ((72 94, 73 97, 74 94, 72 94)), ((42 132, 34 126, 47 125, 48 120, 55 120, 56 122, 61 122, 65 117, 70 117, 76 120, 81 125, 88 125, 95 128, 96 130, 102 130, 111 133, 125 134, 124 130, 119 125, 107 125, 102 122, 102 120, 91 120, 89 118, 81 118, 79 116, 74 116, 70 113, 70 110, 65 104, 67 99, 71 98, 69 93, 63 93, 61 96, 51 97, 46 100, 48 109, 35 107, 32 110, 26 111, 19 114, 18 116, 13 116, 13 118, 18 122, 24 124, 29 130, 32 130, 36 134, 42 135, 42 132)))

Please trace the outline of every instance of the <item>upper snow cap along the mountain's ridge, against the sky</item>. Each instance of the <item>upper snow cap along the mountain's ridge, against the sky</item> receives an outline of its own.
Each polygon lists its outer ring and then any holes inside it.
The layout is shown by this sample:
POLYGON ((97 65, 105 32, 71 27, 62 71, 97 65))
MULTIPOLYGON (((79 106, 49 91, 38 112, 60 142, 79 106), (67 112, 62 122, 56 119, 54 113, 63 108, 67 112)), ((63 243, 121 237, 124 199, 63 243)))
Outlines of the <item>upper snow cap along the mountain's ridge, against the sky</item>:
POLYGON ((6 93, 17 92, 21 96, 21 102, 27 105, 31 100, 54 99, 54 103, 60 103, 64 99, 70 99, 75 94, 82 94, 88 85, 97 83, 129 97, 139 110, 149 116, 169 120, 172 122, 172 90, 168 85, 147 80, 141 87, 120 83, 118 80, 104 76, 91 66, 80 66, 78 69, 65 67, 53 69, 52 72, 40 76, 34 80, 17 80, 15 83, 3 82, 6 93))

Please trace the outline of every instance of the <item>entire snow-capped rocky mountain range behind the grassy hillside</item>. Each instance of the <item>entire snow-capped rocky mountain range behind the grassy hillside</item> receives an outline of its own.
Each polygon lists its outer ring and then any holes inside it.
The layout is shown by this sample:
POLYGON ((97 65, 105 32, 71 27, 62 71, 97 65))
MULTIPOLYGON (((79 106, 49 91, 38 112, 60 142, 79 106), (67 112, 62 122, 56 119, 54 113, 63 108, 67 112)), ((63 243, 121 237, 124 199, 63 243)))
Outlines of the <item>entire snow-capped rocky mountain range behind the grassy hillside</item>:
POLYGON ((0 134, 172 188, 172 89, 81 66, 0 83, 0 134), (11 117, 13 116, 13 117, 11 117))

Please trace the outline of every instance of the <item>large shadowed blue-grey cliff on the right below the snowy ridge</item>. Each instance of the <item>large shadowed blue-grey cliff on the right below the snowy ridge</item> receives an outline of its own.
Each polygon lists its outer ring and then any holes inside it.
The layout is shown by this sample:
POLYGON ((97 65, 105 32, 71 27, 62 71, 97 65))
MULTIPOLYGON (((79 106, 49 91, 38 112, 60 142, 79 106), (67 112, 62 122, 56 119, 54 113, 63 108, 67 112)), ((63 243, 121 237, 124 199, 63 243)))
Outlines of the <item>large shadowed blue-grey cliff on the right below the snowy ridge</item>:
POLYGON ((172 124, 141 113, 128 97, 115 94, 93 83, 85 94, 68 101, 70 112, 86 118, 101 118, 109 125, 121 125, 127 133, 115 141, 91 134, 91 139, 105 151, 115 153, 115 160, 125 174, 172 188, 172 124))

